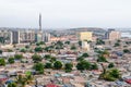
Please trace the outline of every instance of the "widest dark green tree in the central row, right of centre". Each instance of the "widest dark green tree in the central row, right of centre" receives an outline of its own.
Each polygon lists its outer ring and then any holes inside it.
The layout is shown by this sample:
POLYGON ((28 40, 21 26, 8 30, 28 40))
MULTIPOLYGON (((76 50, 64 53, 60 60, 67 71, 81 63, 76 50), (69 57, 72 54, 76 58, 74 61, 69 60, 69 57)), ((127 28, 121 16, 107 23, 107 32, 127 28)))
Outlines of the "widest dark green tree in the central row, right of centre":
POLYGON ((76 64, 76 69, 80 70, 80 71, 84 71, 84 70, 90 70, 91 67, 91 63, 88 61, 80 61, 78 64, 76 64))

